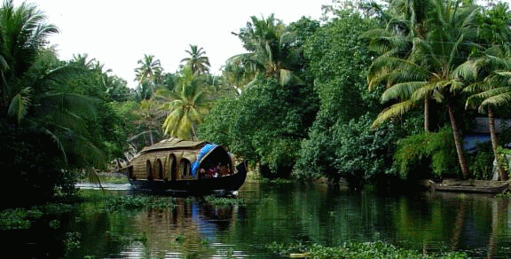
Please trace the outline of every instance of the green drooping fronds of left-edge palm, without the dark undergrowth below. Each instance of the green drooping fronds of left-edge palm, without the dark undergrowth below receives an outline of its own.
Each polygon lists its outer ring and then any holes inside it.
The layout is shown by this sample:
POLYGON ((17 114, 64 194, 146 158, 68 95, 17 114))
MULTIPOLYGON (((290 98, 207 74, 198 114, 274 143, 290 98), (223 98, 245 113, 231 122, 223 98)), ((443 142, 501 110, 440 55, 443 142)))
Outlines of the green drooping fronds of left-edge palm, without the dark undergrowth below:
POLYGON ((51 137, 71 169, 100 166, 104 156, 86 123, 95 118, 97 100, 65 90, 86 71, 62 65, 44 48, 58 32, 45 19, 33 4, 4 1, 0 7, 0 118, 51 137))

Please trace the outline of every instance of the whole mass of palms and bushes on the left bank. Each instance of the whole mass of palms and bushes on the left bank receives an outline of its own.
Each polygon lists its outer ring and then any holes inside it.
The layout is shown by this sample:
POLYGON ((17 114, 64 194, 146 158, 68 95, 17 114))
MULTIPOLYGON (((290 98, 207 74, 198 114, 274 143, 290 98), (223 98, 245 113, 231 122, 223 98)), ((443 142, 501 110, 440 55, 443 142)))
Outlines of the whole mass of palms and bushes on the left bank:
POLYGON ((59 60, 46 48, 58 29, 34 4, 4 1, 0 25, 2 194, 22 193, 2 207, 45 203, 122 154, 126 132, 108 103, 126 84, 86 55, 59 60))

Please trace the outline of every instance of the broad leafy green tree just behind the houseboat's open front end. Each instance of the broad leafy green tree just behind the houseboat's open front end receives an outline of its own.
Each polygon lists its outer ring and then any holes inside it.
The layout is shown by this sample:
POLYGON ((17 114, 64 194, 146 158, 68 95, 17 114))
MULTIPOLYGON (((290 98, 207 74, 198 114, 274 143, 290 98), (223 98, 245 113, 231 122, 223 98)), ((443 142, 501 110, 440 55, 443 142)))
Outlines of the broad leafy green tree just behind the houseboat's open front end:
POLYGON ((259 162, 267 169, 267 177, 287 177, 317 103, 310 87, 283 87, 275 79, 261 80, 240 98, 219 102, 200 125, 199 137, 259 162))

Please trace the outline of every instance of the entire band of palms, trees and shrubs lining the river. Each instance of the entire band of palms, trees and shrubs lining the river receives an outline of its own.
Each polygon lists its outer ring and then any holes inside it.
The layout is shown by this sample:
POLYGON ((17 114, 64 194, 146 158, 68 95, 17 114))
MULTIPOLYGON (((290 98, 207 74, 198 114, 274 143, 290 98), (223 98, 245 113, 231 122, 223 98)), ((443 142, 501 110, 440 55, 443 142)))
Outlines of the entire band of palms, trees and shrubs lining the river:
POLYGON ((289 24, 277 14, 249 17, 233 33, 245 52, 220 75, 197 44, 179 50, 175 72, 143 54, 130 89, 87 54, 60 60, 48 45, 58 27, 35 4, 4 1, 2 150, 7 180, 19 184, 3 192, 33 192, 27 206, 73 192, 77 177, 119 168, 164 137, 224 145, 270 178, 389 188, 488 178, 495 160, 507 179, 509 127, 495 122, 509 111, 507 4, 393 0, 326 10, 324 20, 289 24), (462 144, 481 116, 491 141, 472 153, 462 144))

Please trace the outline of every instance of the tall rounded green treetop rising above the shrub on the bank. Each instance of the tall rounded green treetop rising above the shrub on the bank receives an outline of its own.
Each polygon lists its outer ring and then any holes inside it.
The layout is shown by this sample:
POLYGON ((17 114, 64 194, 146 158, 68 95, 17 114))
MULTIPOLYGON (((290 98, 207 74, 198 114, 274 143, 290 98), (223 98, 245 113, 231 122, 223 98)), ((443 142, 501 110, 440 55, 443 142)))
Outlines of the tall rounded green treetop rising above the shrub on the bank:
POLYGON ((378 96, 366 90, 366 69, 373 53, 360 35, 377 26, 374 20, 345 11, 306 41, 304 55, 321 102, 318 122, 315 122, 321 125, 315 128, 376 112, 374 104, 378 96))

